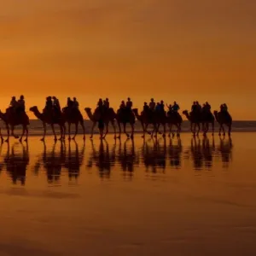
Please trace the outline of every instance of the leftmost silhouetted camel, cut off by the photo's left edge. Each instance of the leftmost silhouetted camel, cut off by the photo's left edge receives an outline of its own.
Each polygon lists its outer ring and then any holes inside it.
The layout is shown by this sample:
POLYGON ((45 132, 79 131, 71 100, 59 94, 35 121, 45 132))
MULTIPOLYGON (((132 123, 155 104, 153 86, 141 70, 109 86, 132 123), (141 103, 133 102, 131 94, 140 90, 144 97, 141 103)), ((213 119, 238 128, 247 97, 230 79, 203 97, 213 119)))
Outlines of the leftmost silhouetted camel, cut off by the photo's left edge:
MULTIPOLYGON (((22 134, 21 134, 21 137, 20 137, 20 142, 22 141, 22 138, 25 134, 25 131, 26 131, 26 138, 25 138, 24 141, 27 141, 27 137, 28 137, 27 125, 29 125, 29 118, 28 118, 28 116, 25 112, 24 113, 19 113, 19 114, 14 114, 14 113, 11 113, 9 108, 7 109, 6 113, 3 113, 0 110, 0 119, 3 119, 3 122, 6 125, 6 130, 7 130, 7 134, 8 134, 8 137, 5 140, 6 142, 9 142, 9 125, 10 125, 10 128, 11 128, 11 136, 13 136, 15 138, 19 138, 18 136, 15 136, 15 133, 14 133, 15 126, 16 125, 22 125, 23 130, 22 130, 22 134)), ((2 135, 1 135, 1 138, 2 138, 2 141, 3 141, 2 135)))

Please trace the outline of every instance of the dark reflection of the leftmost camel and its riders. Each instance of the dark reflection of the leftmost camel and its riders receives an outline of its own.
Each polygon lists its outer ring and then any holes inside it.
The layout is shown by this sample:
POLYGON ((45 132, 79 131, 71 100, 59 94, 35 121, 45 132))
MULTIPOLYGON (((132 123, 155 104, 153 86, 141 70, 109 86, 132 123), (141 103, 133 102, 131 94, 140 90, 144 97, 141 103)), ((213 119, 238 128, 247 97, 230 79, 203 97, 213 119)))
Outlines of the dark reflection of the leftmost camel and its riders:
POLYGON ((25 185, 26 167, 29 164, 28 143, 26 145, 14 143, 11 148, 8 143, 7 147, 7 153, 4 157, 6 171, 14 184, 19 181, 21 185, 25 185))

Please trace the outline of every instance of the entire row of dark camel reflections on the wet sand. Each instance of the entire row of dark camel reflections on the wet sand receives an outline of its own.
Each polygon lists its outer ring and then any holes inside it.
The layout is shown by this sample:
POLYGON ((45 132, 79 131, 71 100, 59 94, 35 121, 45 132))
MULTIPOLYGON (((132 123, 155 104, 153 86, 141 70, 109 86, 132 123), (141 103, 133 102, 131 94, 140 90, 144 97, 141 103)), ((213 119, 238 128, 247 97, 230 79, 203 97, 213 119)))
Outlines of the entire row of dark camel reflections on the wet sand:
MULTIPOLYGON (((87 145, 88 154, 85 154, 84 142, 80 145, 75 141, 50 145, 43 143, 43 152, 32 167, 33 174, 38 176, 39 173, 45 173, 49 184, 60 185, 61 176, 66 175, 69 183, 78 182, 84 158, 84 170, 96 169, 99 177, 110 178, 113 166, 116 166, 125 179, 134 177, 136 167, 140 167, 138 170, 143 167, 146 173, 165 174, 166 169, 182 168, 183 162, 189 162, 189 166, 200 171, 212 170, 219 160, 223 167, 227 168, 232 160, 231 138, 219 139, 217 146, 213 137, 192 137, 185 146, 180 137, 151 138, 141 143, 136 144, 131 139, 125 142, 117 140, 110 145, 106 140, 98 143, 90 141, 87 145)), ((0 172, 6 171, 13 183, 20 181, 24 185, 30 159, 28 144, 2 144, 0 157, 3 158, 3 161, 0 161, 0 172), (3 148, 7 148, 4 154, 3 148)))

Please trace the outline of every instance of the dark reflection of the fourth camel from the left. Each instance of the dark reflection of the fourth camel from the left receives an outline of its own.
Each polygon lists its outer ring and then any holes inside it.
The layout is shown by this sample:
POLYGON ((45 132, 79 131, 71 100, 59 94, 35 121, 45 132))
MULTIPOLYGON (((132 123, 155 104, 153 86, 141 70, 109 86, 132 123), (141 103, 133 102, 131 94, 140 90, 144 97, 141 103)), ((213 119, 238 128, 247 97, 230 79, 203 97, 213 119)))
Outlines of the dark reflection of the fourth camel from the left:
POLYGON ((87 168, 92 168, 95 165, 100 177, 109 178, 115 160, 115 145, 113 145, 112 152, 110 153, 108 143, 105 139, 101 140, 98 150, 96 150, 93 141, 90 141, 90 143, 91 154, 87 163, 87 168))

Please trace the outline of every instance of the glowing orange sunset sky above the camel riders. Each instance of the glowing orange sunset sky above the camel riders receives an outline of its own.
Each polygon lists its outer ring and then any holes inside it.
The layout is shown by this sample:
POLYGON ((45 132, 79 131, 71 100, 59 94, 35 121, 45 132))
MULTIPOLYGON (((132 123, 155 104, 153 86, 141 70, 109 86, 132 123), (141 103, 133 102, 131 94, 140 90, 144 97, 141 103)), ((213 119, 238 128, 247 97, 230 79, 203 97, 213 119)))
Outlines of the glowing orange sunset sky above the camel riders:
MULTIPOLYGON (((254 0, 0 0, 0 108, 21 93, 114 108, 131 96, 230 106, 255 119, 254 0)), ((85 115, 84 115, 85 116, 85 115)))

